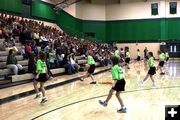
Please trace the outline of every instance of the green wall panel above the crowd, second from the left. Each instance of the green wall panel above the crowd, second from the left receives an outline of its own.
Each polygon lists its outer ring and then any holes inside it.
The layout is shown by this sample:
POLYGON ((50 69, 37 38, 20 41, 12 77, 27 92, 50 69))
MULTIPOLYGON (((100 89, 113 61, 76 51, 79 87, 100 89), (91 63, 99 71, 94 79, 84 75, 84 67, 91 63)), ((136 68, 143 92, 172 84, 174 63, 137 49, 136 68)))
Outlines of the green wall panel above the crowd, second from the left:
POLYGON ((33 17, 44 18, 52 21, 56 20, 56 13, 53 10, 53 5, 51 4, 41 1, 33 1, 31 9, 33 17))

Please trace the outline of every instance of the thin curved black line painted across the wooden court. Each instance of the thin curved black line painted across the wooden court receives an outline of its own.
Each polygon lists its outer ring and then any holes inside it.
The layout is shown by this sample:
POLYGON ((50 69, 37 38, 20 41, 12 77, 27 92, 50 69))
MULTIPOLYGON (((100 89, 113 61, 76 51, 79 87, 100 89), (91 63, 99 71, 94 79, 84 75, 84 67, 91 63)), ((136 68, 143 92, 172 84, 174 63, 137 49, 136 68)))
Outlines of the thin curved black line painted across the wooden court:
MULTIPOLYGON (((156 88, 156 89, 153 89, 153 88, 148 88, 148 89, 143 89, 143 90, 132 90, 132 91, 127 91, 127 92, 124 92, 124 93, 132 93, 132 92, 142 92, 142 91, 149 91, 149 90, 158 90, 158 89, 173 89, 173 88, 180 88, 180 86, 171 86, 171 87, 161 87, 161 88, 156 88)), ((96 97, 91 97, 91 98, 87 98, 87 99, 84 99, 84 100, 79 100, 79 101, 76 101, 76 102, 73 102, 73 103, 70 103, 70 104, 66 104, 64 106, 61 106, 61 107, 58 107, 58 108, 55 108, 55 109, 52 109, 50 111, 47 111, 43 114, 40 114, 34 118, 32 118, 31 120, 36 120, 37 118, 40 118, 48 113, 51 113, 53 111, 56 111, 56 110, 59 110, 59 109, 62 109, 62 108, 65 108, 65 107, 68 107, 68 106, 71 106, 71 105, 74 105, 74 104, 77 104, 77 103, 81 103, 81 102, 85 102, 85 101, 88 101, 88 100, 92 100, 92 99, 96 99, 96 98, 101 98, 101 97, 105 97, 107 95, 101 95, 101 96, 96 96, 96 97)))

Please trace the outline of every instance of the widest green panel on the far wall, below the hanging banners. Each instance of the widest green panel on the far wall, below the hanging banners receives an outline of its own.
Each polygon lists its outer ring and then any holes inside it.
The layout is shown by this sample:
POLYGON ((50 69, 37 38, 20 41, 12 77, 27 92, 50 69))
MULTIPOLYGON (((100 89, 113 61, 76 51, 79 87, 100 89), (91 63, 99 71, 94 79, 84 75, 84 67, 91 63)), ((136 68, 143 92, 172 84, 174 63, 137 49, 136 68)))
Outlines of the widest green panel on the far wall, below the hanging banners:
POLYGON ((107 21, 107 41, 136 42, 160 39, 159 20, 107 21))

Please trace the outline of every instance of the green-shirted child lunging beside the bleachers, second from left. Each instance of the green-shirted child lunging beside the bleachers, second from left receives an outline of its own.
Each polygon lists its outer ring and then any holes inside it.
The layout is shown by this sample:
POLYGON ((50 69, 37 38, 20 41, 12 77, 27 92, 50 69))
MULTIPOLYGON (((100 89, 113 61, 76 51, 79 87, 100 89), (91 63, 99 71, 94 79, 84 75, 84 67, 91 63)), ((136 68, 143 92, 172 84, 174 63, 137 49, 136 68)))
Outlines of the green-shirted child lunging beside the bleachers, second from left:
POLYGON ((96 69, 96 66, 95 66, 95 60, 94 58, 92 57, 93 56, 93 52, 92 51, 88 51, 87 52, 88 56, 87 56, 87 64, 90 66, 86 75, 84 75, 80 80, 83 81, 85 78, 87 78, 88 76, 91 77, 92 79, 92 82, 90 84, 96 84, 96 81, 94 80, 94 77, 93 77, 93 73, 96 69))

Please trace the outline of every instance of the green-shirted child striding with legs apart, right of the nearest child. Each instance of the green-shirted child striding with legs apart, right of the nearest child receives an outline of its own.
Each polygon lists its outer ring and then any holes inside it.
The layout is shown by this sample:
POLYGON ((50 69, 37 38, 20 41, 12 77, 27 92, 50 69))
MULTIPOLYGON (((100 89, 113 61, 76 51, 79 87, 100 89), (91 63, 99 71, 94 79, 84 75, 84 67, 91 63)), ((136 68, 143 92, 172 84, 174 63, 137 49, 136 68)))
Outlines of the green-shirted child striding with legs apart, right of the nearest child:
POLYGON ((149 66, 149 71, 146 75, 146 77, 140 81, 141 84, 143 84, 149 77, 151 78, 153 84, 152 87, 156 87, 155 81, 153 79, 153 75, 156 73, 156 67, 155 67, 155 63, 154 63, 154 57, 153 57, 153 53, 149 52, 148 53, 148 66, 149 66))

